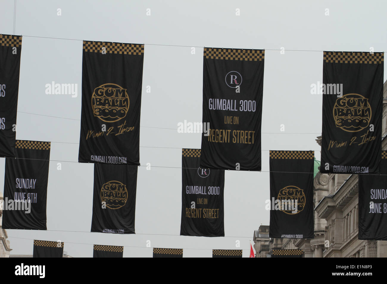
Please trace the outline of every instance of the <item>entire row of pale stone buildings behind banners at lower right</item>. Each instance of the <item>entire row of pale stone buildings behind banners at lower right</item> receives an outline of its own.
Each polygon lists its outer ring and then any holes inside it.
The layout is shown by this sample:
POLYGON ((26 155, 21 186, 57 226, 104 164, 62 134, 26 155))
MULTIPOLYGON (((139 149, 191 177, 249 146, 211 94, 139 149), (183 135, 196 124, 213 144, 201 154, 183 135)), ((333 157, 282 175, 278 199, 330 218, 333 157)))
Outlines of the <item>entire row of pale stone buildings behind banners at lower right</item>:
MULTIPOLYGON (((387 150, 387 81, 383 87, 382 150, 387 150)), ((316 139, 320 146, 321 137, 316 139)), ((256 257, 273 249, 302 249, 304 257, 387 257, 387 241, 358 240, 358 175, 318 172, 313 189, 314 239, 255 238, 269 245, 256 257)))

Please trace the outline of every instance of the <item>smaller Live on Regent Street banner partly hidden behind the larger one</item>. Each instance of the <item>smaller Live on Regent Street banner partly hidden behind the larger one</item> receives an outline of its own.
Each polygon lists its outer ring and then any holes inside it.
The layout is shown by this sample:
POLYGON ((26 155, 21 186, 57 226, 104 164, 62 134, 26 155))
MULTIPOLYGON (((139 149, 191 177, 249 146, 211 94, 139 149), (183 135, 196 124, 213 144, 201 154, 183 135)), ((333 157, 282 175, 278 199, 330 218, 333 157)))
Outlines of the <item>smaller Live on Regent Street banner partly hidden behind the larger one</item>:
POLYGON ((200 149, 182 149, 182 236, 224 236, 224 170, 200 167, 200 149))

